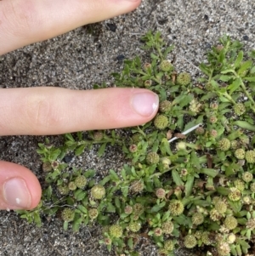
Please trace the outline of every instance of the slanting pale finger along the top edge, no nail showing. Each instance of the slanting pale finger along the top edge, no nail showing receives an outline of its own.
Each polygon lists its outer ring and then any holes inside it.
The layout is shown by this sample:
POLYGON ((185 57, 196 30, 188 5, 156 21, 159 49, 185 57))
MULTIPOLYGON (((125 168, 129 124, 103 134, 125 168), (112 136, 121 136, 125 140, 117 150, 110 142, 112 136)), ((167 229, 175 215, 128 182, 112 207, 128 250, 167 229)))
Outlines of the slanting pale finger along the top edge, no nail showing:
POLYGON ((127 13, 141 0, 0 1, 0 55, 127 13))

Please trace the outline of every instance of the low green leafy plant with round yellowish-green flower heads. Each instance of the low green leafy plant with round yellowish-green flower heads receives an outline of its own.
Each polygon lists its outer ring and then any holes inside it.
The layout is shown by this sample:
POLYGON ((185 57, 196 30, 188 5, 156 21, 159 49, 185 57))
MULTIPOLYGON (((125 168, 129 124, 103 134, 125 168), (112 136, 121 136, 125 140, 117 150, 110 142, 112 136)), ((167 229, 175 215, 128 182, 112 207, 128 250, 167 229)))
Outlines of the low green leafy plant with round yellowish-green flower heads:
POLYGON ((200 65, 204 75, 192 82, 167 60, 173 46, 159 32, 142 40, 150 62, 126 60, 113 76, 116 86, 159 94, 158 115, 126 129, 130 139, 95 131, 65 134, 58 147, 48 139, 39 144, 42 202, 19 211, 21 218, 41 225, 41 214, 61 212, 64 228, 75 231, 98 223, 104 227, 100 243, 118 254, 139 255, 135 246, 145 233, 161 255, 180 246, 200 247, 203 255, 245 255, 255 238, 254 51, 245 54, 240 42, 221 37, 200 65), (68 152, 78 156, 95 144, 99 156, 107 145, 122 148, 128 162, 97 183, 94 170, 68 171, 63 162, 68 152))

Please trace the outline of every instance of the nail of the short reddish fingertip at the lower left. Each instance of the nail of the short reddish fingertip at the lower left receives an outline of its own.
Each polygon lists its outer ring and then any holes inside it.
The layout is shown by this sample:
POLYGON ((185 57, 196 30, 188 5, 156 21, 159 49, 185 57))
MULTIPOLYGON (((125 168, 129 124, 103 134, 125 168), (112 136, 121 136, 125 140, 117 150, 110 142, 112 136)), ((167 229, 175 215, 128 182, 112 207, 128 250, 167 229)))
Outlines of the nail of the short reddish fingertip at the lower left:
POLYGON ((31 206, 31 194, 24 179, 8 179, 3 185, 3 196, 10 207, 30 208, 31 206))

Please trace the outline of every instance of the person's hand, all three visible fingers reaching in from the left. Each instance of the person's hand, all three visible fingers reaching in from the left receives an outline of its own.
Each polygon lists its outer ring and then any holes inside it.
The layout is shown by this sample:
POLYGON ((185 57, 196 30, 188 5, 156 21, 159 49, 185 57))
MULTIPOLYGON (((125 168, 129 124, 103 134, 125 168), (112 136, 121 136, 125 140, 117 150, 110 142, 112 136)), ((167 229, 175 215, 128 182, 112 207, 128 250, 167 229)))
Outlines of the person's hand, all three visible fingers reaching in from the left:
MULTIPOLYGON (((126 13, 141 0, 0 0, 0 55, 72 29, 126 13)), ((146 89, 0 89, 0 136, 65 134, 150 121, 158 97, 146 89)), ((37 177, 0 162, 0 209, 31 209, 41 198, 37 177)))

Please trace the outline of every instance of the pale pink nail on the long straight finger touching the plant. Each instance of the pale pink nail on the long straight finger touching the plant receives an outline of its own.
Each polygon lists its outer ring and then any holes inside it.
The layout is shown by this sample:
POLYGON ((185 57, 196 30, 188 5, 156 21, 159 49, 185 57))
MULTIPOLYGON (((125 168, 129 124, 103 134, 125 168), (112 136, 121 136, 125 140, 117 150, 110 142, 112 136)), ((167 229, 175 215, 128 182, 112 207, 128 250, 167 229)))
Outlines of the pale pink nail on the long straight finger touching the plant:
POLYGON ((152 92, 145 92, 133 95, 133 109, 140 116, 150 117, 153 113, 157 111, 158 104, 158 95, 152 92))

